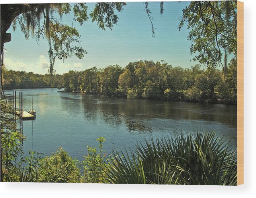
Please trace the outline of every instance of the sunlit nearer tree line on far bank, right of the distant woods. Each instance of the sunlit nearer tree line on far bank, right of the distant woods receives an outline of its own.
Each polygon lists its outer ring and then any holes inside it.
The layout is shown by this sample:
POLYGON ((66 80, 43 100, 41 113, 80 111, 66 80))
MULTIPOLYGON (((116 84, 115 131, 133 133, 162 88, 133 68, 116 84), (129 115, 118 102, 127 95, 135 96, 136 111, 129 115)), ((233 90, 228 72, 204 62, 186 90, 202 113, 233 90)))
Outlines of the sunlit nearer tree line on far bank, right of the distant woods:
POLYGON ((57 87, 86 94, 123 96, 129 99, 150 98, 194 102, 237 102, 237 60, 227 71, 194 65, 191 68, 172 67, 153 61, 130 62, 124 68, 109 65, 84 71, 69 71, 59 77, 57 87))

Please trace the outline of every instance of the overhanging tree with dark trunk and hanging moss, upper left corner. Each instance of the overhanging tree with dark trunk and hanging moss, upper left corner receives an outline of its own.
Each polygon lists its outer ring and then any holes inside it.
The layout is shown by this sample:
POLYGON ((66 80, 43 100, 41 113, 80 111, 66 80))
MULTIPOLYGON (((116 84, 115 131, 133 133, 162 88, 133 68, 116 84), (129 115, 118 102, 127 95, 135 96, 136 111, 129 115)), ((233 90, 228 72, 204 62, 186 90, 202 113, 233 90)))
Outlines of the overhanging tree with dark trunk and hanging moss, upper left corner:
MULTIPOLYGON (((126 5, 124 2, 96 3, 94 10, 89 14, 92 21, 96 21, 101 29, 113 27, 118 17, 115 11, 121 12, 126 5)), ((74 21, 80 25, 89 19, 86 3, 75 4, 2 4, 1 5, 1 66, 4 56, 4 38, 6 31, 13 23, 14 30, 19 23, 25 38, 47 38, 49 42, 49 72, 54 73, 55 58, 65 59, 73 54, 81 59, 86 50, 75 44, 79 43, 80 34, 72 26, 63 24, 63 14, 74 12, 74 21)))

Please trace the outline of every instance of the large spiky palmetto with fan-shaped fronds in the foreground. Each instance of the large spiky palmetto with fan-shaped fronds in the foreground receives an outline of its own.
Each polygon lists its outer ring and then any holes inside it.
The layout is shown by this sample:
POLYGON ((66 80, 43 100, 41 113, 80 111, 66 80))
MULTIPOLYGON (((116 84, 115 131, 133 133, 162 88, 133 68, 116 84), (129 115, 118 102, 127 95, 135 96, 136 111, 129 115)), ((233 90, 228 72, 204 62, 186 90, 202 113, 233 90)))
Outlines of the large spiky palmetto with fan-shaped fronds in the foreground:
POLYGON ((237 185, 236 152, 213 132, 138 143, 108 169, 110 183, 237 185))

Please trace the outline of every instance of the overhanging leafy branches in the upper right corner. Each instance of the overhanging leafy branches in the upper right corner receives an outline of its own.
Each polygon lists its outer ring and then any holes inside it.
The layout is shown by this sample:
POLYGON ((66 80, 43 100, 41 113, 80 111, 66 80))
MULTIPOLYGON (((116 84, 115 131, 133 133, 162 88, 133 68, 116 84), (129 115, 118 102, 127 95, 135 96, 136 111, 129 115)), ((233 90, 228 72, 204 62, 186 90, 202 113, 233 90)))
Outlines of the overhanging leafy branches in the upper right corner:
MULTIPOLYGON (((183 10, 179 30, 191 29, 193 61, 208 67, 221 64, 225 54, 237 55, 237 1, 195 1, 183 10)), ((225 58, 226 59, 226 58, 225 58)))

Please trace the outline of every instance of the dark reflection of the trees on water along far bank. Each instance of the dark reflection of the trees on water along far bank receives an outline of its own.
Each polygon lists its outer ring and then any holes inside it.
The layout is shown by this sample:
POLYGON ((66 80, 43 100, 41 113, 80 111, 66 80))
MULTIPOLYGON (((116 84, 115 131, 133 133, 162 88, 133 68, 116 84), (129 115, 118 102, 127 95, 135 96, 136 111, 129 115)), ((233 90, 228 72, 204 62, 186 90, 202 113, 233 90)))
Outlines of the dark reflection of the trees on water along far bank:
POLYGON ((127 122, 131 118, 201 120, 220 122, 231 127, 236 127, 237 123, 236 107, 224 104, 128 100, 88 95, 82 95, 82 103, 86 117, 96 115, 100 111, 104 121, 113 124, 121 124, 122 120, 127 122))

